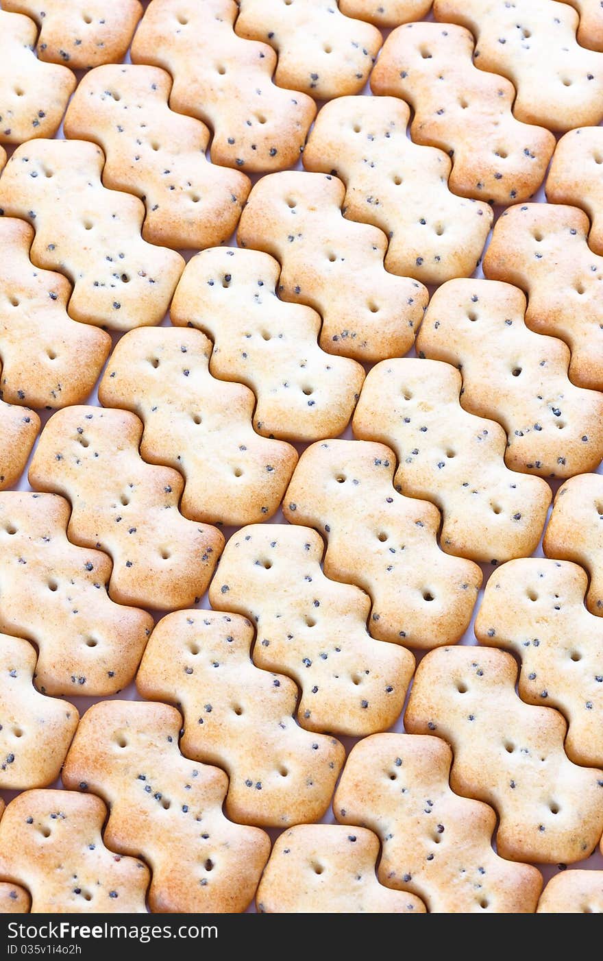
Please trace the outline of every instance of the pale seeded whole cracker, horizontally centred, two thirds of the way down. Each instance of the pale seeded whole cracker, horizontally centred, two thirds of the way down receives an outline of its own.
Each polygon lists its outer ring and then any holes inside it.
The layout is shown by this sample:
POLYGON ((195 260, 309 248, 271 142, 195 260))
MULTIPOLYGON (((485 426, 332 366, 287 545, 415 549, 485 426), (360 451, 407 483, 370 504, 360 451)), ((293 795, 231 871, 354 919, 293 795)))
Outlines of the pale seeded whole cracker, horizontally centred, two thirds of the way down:
POLYGON ((302 727, 351 736, 385 730, 402 710, 414 657, 370 636, 369 598, 326 578, 324 550, 308 528, 238 530, 209 587, 210 603, 249 617, 255 664, 300 687, 302 727))

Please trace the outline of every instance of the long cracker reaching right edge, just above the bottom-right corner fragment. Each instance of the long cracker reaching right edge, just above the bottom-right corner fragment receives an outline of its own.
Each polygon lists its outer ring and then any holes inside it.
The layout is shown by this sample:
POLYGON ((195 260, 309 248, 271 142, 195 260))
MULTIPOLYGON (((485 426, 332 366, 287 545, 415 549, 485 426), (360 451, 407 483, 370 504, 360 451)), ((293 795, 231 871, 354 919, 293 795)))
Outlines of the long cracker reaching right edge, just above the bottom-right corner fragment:
POLYGON ((520 701, 517 676, 502 651, 432 651, 417 669, 404 725, 450 743, 450 786, 494 806, 502 857, 581 860, 603 830, 603 772, 567 758, 563 715, 520 701))

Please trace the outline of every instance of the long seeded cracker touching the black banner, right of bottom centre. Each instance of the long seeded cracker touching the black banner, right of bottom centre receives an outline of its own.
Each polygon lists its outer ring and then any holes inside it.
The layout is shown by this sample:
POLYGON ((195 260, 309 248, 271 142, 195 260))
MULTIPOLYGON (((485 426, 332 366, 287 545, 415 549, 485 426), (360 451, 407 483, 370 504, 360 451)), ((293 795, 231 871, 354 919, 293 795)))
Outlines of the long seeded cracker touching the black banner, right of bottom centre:
POLYGON ((350 751, 335 817, 370 827, 383 846, 381 883, 413 892, 431 913, 533 912, 542 875, 494 853, 494 811, 450 790, 451 760, 436 737, 368 737, 350 751))

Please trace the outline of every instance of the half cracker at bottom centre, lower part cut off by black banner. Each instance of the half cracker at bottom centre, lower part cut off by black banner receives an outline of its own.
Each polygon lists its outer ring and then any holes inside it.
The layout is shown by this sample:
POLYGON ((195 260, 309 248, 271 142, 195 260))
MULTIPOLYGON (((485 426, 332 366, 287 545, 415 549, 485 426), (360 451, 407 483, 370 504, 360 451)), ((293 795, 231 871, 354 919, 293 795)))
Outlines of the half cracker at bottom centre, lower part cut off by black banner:
POLYGON ((379 884, 372 831, 298 825, 284 831, 259 882, 261 914, 424 914, 419 898, 379 884))

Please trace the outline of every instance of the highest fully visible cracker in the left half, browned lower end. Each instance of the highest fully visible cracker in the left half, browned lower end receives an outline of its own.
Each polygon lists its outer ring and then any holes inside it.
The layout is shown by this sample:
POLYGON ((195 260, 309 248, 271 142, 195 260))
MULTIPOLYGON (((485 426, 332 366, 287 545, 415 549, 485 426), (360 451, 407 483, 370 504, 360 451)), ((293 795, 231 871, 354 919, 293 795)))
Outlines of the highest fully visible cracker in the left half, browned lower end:
POLYGON ((78 86, 64 130, 103 148, 105 186, 144 201, 145 240, 199 250, 229 239, 251 182, 205 160, 209 131, 169 109, 171 86, 157 67, 97 67, 78 86))

